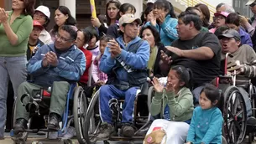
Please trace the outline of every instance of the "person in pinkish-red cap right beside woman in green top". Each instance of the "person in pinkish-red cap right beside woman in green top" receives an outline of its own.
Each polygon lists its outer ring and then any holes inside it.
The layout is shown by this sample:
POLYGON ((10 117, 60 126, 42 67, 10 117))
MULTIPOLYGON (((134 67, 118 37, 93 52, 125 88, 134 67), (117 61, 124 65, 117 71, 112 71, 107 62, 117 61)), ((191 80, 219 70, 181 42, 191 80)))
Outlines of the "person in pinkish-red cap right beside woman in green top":
POLYGON ((43 46, 44 43, 39 39, 39 35, 44 29, 44 27, 39 23, 38 21, 33 21, 33 30, 32 33, 30 33, 29 36, 29 44, 28 44, 28 50, 27 50, 27 59, 29 60, 39 49, 39 47, 43 46))

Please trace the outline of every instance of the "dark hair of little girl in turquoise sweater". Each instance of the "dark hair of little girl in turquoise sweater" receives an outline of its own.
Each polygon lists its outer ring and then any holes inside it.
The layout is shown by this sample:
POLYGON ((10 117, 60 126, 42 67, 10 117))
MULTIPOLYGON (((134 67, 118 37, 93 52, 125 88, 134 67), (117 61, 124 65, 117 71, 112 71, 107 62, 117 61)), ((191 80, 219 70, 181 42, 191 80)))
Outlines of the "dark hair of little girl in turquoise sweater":
POLYGON ((218 89, 215 85, 206 84, 206 86, 201 90, 200 95, 202 92, 205 92, 207 99, 211 100, 212 103, 215 100, 218 100, 217 104, 214 106, 217 106, 222 111, 222 104, 224 99, 222 90, 218 89))

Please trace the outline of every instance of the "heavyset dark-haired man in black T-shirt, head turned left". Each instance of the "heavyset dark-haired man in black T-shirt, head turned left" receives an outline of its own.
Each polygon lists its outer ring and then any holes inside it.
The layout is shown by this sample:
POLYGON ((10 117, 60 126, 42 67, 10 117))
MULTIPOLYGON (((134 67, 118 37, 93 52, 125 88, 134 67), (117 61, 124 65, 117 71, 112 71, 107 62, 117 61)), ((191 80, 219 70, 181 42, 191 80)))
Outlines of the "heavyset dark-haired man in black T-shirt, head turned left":
POLYGON ((196 103, 204 85, 219 75, 221 45, 214 34, 200 31, 201 21, 196 13, 180 13, 176 28, 179 39, 166 47, 169 57, 162 52, 161 68, 165 74, 171 65, 190 68, 193 72, 196 103))

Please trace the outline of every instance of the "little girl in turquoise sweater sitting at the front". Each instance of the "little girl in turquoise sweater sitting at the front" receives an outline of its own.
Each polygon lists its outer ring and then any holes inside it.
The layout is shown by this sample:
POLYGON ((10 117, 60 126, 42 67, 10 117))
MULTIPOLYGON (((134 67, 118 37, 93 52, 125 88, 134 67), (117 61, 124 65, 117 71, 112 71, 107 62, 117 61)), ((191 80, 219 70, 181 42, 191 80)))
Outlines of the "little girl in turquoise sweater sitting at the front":
POLYGON ((214 85, 206 85, 199 98, 200 106, 196 107, 186 144, 222 143, 222 111, 217 107, 221 104, 222 91, 214 85))

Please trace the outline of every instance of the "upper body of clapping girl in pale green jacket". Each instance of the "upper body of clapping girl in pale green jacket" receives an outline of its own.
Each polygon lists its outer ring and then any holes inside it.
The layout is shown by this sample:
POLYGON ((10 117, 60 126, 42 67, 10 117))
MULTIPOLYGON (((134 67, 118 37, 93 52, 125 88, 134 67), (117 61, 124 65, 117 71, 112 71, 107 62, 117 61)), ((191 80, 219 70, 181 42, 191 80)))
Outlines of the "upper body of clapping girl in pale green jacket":
POLYGON ((161 85, 157 78, 153 78, 152 83, 155 96, 150 105, 151 115, 169 121, 190 123, 194 110, 193 95, 190 90, 191 71, 177 65, 170 69, 166 86, 161 85))

